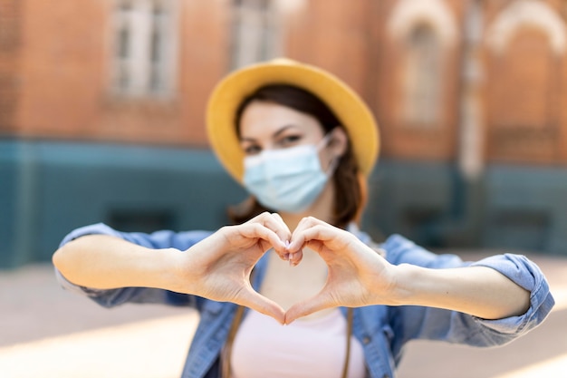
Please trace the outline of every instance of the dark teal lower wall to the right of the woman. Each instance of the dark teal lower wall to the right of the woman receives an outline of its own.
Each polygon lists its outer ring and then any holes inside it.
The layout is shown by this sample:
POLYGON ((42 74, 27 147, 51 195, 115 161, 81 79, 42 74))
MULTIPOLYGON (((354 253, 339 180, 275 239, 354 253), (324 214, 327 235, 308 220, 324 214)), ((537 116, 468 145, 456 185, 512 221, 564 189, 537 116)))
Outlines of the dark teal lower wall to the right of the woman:
POLYGON ((476 180, 456 165, 381 161, 364 226, 427 247, 567 256, 567 169, 492 165, 476 180))

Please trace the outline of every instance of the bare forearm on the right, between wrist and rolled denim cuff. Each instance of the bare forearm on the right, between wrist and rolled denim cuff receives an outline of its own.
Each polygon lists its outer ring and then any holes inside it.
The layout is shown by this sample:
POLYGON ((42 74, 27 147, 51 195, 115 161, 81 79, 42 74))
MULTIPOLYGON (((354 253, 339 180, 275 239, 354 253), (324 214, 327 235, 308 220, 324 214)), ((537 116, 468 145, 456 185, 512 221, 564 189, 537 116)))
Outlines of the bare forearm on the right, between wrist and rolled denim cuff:
POLYGON ((398 268, 401 305, 446 308, 484 319, 523 315, 530 306, 527 290, 489 267, 398 268))

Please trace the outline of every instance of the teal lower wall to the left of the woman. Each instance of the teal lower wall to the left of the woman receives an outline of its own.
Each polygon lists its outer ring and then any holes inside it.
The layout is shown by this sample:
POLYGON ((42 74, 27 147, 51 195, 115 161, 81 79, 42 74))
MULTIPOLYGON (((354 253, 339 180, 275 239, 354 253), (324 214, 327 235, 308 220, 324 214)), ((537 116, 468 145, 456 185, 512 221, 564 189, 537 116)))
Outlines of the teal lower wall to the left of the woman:
POLYGON ((216 229, 245 199, 207 150, 0 141, 0 267, 51 258, 73 228, 216 229))

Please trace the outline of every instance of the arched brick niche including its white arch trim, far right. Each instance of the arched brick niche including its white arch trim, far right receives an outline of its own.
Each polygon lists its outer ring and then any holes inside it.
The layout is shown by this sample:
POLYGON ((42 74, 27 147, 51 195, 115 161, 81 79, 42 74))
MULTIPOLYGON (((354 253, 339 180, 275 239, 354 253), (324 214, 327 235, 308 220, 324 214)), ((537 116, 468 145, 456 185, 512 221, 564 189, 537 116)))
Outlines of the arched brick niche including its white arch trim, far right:
POLYGON ((561 156, 562 17, 544 2, 507 6, 485 36, 488 159, 553 162, 561 156))

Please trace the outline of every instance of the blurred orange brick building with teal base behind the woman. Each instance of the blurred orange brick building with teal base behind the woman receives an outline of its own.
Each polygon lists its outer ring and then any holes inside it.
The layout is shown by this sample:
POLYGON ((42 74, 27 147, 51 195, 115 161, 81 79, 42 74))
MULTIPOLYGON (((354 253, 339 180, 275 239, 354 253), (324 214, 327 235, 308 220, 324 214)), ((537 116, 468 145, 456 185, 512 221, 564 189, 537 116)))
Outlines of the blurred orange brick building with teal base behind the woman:
POLYGON ((0 0, 0 267, 93 221, 225 222, 207 95, 274 56, 375 112, 376 237, 565 253, 566 38, 564 0, 0 0))

